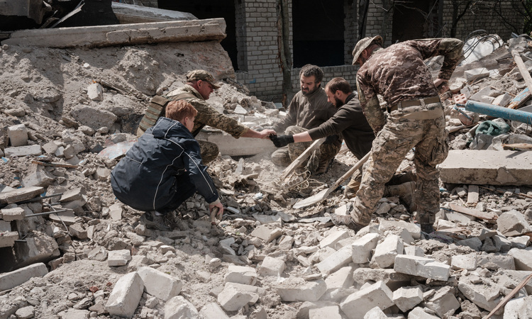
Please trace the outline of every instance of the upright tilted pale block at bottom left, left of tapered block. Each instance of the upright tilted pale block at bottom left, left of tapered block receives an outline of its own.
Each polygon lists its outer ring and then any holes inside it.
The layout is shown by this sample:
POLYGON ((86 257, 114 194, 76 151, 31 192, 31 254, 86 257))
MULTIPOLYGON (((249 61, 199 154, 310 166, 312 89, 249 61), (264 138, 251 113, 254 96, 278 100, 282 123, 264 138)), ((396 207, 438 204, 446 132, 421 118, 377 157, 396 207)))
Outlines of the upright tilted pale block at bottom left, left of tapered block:
POLYGON ((143 279, 140 278, 137 272, 125 274, 121 279, 118 279, 105 305, 109 315, 133 317, 140 297, 143 296, 143 289, 143 279))

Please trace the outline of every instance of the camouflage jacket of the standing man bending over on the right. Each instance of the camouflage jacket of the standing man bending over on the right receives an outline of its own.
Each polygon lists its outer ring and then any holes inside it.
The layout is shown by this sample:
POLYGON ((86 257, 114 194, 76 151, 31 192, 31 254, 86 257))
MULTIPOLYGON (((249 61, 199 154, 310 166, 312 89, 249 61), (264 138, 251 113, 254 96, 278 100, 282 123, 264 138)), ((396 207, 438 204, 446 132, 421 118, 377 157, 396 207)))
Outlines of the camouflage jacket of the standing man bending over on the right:
POLYGON ((423 60, 443 55, 440 79, 450 79, 464 43, 454 38, 409 40, 372 52, 357 73, 358 97, 375 132, 385 123, 377 94, 389 106, 400 101, 438 96, 431 72, 423 60))

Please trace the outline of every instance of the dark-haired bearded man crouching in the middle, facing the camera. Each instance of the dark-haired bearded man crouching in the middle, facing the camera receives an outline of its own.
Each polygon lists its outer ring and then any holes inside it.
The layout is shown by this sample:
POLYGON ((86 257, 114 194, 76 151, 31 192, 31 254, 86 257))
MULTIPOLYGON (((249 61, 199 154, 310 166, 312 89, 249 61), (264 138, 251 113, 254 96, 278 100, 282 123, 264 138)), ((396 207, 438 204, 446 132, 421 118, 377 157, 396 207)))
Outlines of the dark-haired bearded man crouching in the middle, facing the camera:
MULTIPOLYGON (((297 92, 288 113, 282 121, 274 125, 274 130, 285 135, 294 135, 317 128, 336 113, 336 108, 327 101, 325 90, 321 87, 323 71, 316 65, 304 65, 299 72, 301 91, 297 92)), ((279 166, 288 166, 297 159, 311 142, 290 143, 272 154, 272 162, 279 166)), ((326 171, 329 164, 340 150, 341 140, 338 135, 328 136, 326 141, 308 160, 307 167, 311 173, 319 174, 326 171)), ((306 164, 306 163, 304 163, 306 164)))

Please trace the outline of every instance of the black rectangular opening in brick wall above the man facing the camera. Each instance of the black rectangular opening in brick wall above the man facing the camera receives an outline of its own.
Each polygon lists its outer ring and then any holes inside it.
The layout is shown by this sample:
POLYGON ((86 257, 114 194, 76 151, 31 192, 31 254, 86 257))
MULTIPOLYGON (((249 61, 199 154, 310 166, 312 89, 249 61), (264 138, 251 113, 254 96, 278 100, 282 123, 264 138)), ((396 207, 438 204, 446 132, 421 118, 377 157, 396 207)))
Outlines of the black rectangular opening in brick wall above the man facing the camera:
POLYGON ((344 64, 343 0, 292 1, 294 67, 344 64))

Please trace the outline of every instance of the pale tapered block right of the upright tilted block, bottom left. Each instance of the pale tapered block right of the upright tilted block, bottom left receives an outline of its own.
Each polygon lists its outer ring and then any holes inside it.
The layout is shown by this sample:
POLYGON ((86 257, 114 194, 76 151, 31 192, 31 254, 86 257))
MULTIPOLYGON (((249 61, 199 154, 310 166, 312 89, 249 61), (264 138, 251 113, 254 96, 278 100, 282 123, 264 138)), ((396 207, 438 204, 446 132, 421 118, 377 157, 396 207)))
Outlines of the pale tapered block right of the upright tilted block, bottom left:
POLYGON ((181 292, 183 283, 179 278, 151 267, 140 267, 137 272, 143 279, 144 290, 152 296, 168 301, 181 292))

